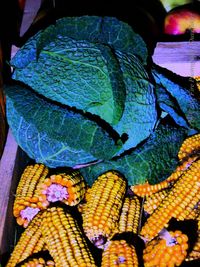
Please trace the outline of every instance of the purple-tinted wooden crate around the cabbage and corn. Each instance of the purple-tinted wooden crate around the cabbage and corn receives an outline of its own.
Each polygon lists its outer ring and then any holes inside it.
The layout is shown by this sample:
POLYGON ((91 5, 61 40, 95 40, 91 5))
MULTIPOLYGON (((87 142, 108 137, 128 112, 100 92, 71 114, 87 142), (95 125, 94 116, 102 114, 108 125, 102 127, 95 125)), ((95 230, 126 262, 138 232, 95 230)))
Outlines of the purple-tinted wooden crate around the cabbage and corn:
MULTIPOLYGON (((153 60, 182 76, 200 76, 200 42, 158 43, 153 60), (181 53, 184 51, 184 54, 181 53), (173 53, 172 53, 173 52, 173 53), (177 54, 178 53, 178 54, 177 54), (180 56, 180 57, 179 57, 180 56), (186 64, 186 68, 183 67, 186 64), (198 68, 196 68, 198 66, 198 68)), ((13 250, 16 223, 12 215, 15 190, 20 175, 29 161, 28 156, 18 147, 11 131, 8 131, 4 152, 0 160, 0 262, 3 263, 13 250)), ((196 264, 196 263, 194 263, 196 264)), ((184 266, 192 266, 187 263, 184 266)), ((197 266, 197 265, 194 265, 197 266)))

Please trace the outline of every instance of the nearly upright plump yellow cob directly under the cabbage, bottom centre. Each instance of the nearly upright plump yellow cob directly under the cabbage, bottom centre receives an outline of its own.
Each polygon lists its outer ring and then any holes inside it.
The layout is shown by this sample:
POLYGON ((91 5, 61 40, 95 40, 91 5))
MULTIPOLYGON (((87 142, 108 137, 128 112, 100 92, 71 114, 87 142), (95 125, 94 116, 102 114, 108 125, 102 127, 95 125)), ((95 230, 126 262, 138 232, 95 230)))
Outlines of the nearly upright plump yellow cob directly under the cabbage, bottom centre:
POLYGON ((100 175, 92 185, 83 212, 83 229, 89 240, 101 248, 117 230, 127 183, 116 171, 100 175))

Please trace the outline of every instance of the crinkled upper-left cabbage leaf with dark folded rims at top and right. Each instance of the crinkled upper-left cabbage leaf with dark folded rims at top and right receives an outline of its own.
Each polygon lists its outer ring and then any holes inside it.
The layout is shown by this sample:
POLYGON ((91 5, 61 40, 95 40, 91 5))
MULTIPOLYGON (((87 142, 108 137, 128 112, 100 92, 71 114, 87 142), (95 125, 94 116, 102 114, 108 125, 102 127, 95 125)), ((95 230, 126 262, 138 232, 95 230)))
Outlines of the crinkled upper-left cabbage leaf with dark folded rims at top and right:
POLYGON ((114 125, 126 95, 116 49, 146 61, 145 43, 126 23, 110 17, 62 18, 20 50, 12 60, 13 78, 114 125))

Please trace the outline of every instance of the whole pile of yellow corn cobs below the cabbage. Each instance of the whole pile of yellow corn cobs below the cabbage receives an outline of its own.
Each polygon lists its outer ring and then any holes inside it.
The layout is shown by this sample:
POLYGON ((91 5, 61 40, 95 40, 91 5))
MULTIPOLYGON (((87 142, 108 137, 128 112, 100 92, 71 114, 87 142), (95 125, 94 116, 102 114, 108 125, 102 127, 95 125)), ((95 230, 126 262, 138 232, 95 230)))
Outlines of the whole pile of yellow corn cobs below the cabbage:
POLYGON ((172 267, 200 259, 199 151, 200 134, 187 138, 165 181, 130 188, 114 170, 89 188, 77 170, 49 175, 43 164, 27 166, 13 206, 25 230, 6 267, 172 267), (194 221, 193 245, 170 230, 172 220, 194 221))

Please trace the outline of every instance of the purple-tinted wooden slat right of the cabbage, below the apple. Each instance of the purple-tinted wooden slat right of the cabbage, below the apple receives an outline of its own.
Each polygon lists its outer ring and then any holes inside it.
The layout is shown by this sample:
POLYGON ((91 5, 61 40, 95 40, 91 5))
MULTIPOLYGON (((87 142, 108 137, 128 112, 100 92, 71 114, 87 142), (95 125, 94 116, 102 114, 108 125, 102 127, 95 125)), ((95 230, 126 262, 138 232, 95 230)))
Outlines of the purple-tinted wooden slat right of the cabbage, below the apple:
POLYGON ((200 75, 200 42, 158 42, 153 61, 184 77, 200 75))

